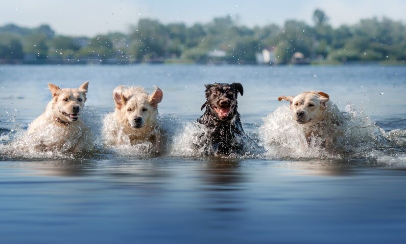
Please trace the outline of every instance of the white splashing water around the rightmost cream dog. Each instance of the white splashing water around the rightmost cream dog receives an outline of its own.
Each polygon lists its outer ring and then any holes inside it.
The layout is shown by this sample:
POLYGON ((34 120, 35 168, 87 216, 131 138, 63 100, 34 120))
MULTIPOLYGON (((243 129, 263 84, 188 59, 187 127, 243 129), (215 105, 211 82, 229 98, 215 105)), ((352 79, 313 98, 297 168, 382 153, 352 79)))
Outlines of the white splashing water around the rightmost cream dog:
MULTIPOLYGON (((406 130, 385 132, 371 122, 362 110, 348 103, 341 112, 342 122, 337 127, 335 143, 331 148, 323 146, 325 138, 312 136, 308 144, 303 126, 292 116, 288 105, 278 107, 264 119, 259 137, 267 150, 267 157, 275 159, 345 159, 371 158, 381 161, 383 152, 389 152, 394 143, 404 146, 406 130), (399 136, 400 135, 400 136, 399 136)), ((323 123, 323 122, 322 122, 323 123)), ((329 125, 324 125, 329 126, 329 125)), ((401 151, 401 157, 404 152, 401 151)), ((394 154, 385 155, 393 157, 394 154)), ((396 154, 395 157, 398 157, 396 154)))

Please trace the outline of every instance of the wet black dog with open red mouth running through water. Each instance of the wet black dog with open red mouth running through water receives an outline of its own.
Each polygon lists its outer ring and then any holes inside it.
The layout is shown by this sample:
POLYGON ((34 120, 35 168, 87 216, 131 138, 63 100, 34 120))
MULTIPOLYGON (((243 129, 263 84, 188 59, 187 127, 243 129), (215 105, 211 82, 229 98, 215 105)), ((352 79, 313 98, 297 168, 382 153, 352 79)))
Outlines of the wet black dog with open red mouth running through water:
POLYGON ((245 150, 246 138, 237 111, 237 94, 244 94, 240 83, 214 83, 206 86, 206 107, 204 114, 197 119, 205 125, 206 132, 200 135, 197 147, 203 147, 204 153, 212 154, 241 154, 245 150))

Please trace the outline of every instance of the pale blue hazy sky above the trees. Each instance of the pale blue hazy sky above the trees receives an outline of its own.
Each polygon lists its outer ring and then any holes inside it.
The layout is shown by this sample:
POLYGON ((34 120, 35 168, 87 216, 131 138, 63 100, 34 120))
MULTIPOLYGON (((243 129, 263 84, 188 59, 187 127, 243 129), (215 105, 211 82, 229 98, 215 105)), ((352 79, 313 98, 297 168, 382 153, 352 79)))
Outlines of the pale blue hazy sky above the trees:
POLYGON ((312 14, 317 8, 326 13, 334 27, 374 16, 406 23, 403 0, 2 0, 0 26, 32 28, 47 24, 57 34, 95 36, 116 31, 128 33, 140 18, 193 25, 231 15, 237 17, 238 24, 249 27, 283 25, 286 19, 313 24, 312 14))

